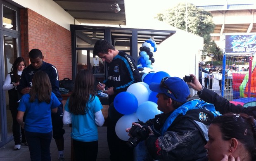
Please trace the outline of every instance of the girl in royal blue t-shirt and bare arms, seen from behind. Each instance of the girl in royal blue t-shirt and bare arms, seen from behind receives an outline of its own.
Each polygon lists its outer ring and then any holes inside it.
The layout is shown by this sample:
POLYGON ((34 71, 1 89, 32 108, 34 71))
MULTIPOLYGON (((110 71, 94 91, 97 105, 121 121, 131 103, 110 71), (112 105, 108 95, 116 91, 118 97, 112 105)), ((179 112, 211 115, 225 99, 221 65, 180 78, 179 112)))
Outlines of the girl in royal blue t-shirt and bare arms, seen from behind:
POLYGON ((47 73, 36 72, 31 91, 21 97, 17 114, 19 125, 25 129, 31 161, 51 161, 51 113, 56 113, 59 105, 47 73))

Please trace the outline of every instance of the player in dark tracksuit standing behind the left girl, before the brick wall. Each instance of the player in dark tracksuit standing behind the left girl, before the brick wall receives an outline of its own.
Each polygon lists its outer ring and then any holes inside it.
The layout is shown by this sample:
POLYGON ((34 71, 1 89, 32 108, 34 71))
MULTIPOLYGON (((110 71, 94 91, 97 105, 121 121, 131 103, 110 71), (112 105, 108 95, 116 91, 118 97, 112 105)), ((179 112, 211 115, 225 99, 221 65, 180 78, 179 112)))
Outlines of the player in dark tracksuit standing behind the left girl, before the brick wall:
POLYGON ((64 150, 64 133, 63 129, 63 104, 62 104, 62 96, 59 92, 59 75, 57 68, 52 64, 46 63, 43 61, 43 54, 38 49, 32 49, 29 52, 29 59, 31 64, 28 65, 26 69, 23 70, 21 74, 20 83, 18 85, 18 90, 22 94, 28 93, 29 88, 32 87, 32 78, 37 71, 44 71, 50 78, 50 82, 52 85, 52 92, 56 95, 61 102, 58 107, 58 111, 56 114, 52 114, 52 132, 53 138, 55 139, 57 148, 59 150, 59 158, 63 157, 64 150))

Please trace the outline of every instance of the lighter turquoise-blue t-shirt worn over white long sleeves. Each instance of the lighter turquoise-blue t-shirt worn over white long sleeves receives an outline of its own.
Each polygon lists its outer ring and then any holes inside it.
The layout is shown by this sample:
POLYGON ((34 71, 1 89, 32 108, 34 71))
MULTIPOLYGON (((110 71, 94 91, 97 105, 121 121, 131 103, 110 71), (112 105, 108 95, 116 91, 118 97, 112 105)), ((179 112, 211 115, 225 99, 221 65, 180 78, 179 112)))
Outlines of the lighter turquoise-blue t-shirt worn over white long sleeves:
MULTIPOLYGON (((92 99, 90 96, 89 100, 92 99)), ((94 113, 100 111, 103 107, 100 103, 100 99, 95 96, 94 99, 86 104, 87 113, 84 115, 72 115, 72 133, 71 137, 74 140, 81 142, 92 142, 98 140, 98 129, 95 123, 94 113)), ((65 110, 70 113, 69 99, 65 104, 65 110)))

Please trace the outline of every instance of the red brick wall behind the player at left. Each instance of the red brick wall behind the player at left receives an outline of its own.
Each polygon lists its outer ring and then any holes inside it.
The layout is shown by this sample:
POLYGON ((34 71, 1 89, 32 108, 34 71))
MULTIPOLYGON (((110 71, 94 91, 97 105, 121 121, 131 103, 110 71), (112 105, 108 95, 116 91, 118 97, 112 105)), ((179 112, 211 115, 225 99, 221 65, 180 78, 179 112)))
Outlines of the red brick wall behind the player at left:
POLYGON ((71 32, 31 9, 20 10, 21 56, 29 62, 28 52, 38 48, 44 61, 59 71, 59 79, 72 79, 71 32))

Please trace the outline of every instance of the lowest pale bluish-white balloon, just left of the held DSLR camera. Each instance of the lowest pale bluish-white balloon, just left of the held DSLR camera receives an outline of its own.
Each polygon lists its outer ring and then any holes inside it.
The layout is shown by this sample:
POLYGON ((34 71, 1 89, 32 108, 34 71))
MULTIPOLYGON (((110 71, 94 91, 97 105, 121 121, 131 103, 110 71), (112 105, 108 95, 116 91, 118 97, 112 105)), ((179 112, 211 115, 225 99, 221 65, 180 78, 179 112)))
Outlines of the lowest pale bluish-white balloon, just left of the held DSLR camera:
POLYGON ((130 136, 128 136, 128 133, 126 132, 126 128, 132 127, 133 122, 138 122, 137 115, 129 114, 129 115, 123 115, 119 120, 116 122, 116 135, 119 137, 119 139, 127 141, 130 136))

